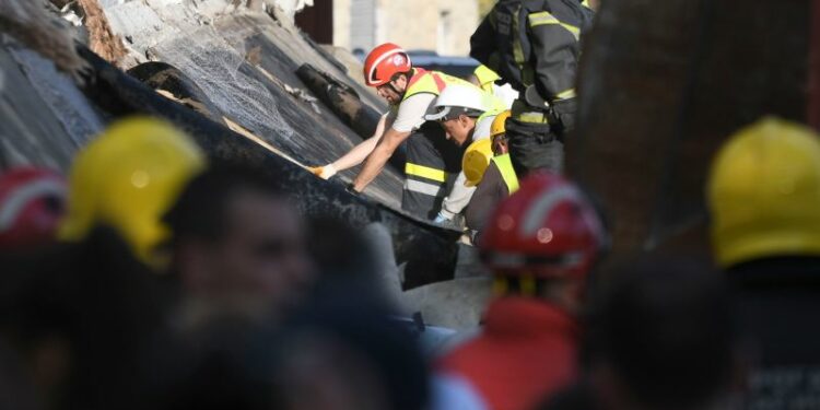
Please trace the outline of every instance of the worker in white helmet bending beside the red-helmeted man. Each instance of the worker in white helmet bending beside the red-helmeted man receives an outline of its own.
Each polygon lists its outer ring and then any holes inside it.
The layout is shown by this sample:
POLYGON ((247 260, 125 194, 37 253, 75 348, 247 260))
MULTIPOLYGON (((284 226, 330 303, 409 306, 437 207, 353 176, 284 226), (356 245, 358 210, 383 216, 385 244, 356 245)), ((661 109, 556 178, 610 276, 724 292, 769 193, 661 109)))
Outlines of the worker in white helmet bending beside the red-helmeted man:
MULTIPOLYGON (((444 89, 438 95, 435 109, 434 114, 425 115, 424 119, 438 121, 444 128, 446 138, 456 145, 471 147, 471 143, 482 140, 489 142, 490 129, 495 116, 501 113, 501 104, 497 99, 491 98, 491 94, 484 93, 476 86, 454 84, 444 89)), ((464 166, 465 162, 461 161, 461 163, 464 166)), ((473 163, 468 163, 468 165, 471 166, 469 172, 473 174, 472 179, 475 180, 479 169, 476 168, 473 163)), ((441 211, 434 220, 435 223, 452 221, 470 202, 476 185, 468 184, 464 171, 462 168, 458 173, 453 189, 442 201, 441 211)))

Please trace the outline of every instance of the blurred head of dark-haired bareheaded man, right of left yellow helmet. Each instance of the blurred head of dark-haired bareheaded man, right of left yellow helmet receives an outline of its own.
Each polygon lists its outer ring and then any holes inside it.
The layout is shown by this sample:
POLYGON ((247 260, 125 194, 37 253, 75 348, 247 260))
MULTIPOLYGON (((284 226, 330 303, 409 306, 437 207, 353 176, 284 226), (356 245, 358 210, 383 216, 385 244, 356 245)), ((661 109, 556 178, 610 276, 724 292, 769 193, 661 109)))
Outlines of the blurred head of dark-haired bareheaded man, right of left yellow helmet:
POLYGON ((183 327, 232 311, 283 316, 315 280, 302 218, 279 181, 256 168, 212 164, 164 221, 173 231, 183 327))

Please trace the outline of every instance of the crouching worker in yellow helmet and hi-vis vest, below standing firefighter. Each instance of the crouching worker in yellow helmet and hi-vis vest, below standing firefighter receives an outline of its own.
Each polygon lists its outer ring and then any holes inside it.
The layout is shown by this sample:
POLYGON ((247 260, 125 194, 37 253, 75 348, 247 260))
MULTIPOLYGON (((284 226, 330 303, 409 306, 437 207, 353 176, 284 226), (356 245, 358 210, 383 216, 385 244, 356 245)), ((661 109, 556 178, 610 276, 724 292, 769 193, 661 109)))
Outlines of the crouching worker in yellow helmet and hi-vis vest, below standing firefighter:
POLYGON ((504 125, 511 112, 506 110, 495 117, 491 127, 494 156, 483 173, 481 183, 472 195, 467 208, 466 223, 473 243, 478 241, 490 213, 504 198, 518 189, 518 176, 513 167, 509 154, 506 153, 504 125))

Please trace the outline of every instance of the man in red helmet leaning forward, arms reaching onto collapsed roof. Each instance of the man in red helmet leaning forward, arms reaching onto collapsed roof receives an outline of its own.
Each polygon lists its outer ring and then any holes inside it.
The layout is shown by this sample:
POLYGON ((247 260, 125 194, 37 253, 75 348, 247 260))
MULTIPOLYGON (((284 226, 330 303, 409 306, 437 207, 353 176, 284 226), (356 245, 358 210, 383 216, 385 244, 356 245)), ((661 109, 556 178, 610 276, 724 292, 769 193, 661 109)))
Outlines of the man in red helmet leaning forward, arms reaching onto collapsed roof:
POLYGON ((436 97, 447 86, 470 84, 443 72, 412 67, 407 51, 391 43, 385 43, 367 55, 364 81, 368 86, 376 87, 378 94, 390 104, 390 112, 382 117, 371 139, 330 166, 314 168, 314 173, 329 178, 366 157, 364 167, 349 187, 361 192, 382 172, 399 145, 407 141, 401 208, 432 220, 460 171, 461 150, 447 142, 444 130, 435 122, 425 121, 424 115, 433 112, 436 97))

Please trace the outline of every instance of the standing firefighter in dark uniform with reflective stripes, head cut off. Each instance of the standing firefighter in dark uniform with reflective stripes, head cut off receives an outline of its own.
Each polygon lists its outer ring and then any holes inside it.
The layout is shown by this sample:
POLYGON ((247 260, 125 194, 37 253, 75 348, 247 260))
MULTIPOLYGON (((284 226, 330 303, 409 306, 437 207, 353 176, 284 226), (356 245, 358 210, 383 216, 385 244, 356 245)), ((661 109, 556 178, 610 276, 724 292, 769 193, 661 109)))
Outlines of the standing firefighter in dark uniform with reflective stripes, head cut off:
POLYGON ((501 0, 470 37, 470 56, 518 91, 506 130, 520 175, 563 166, 563 140, 574 128, 578 40, 591 20, 591 9, 575 0, 501 0))

